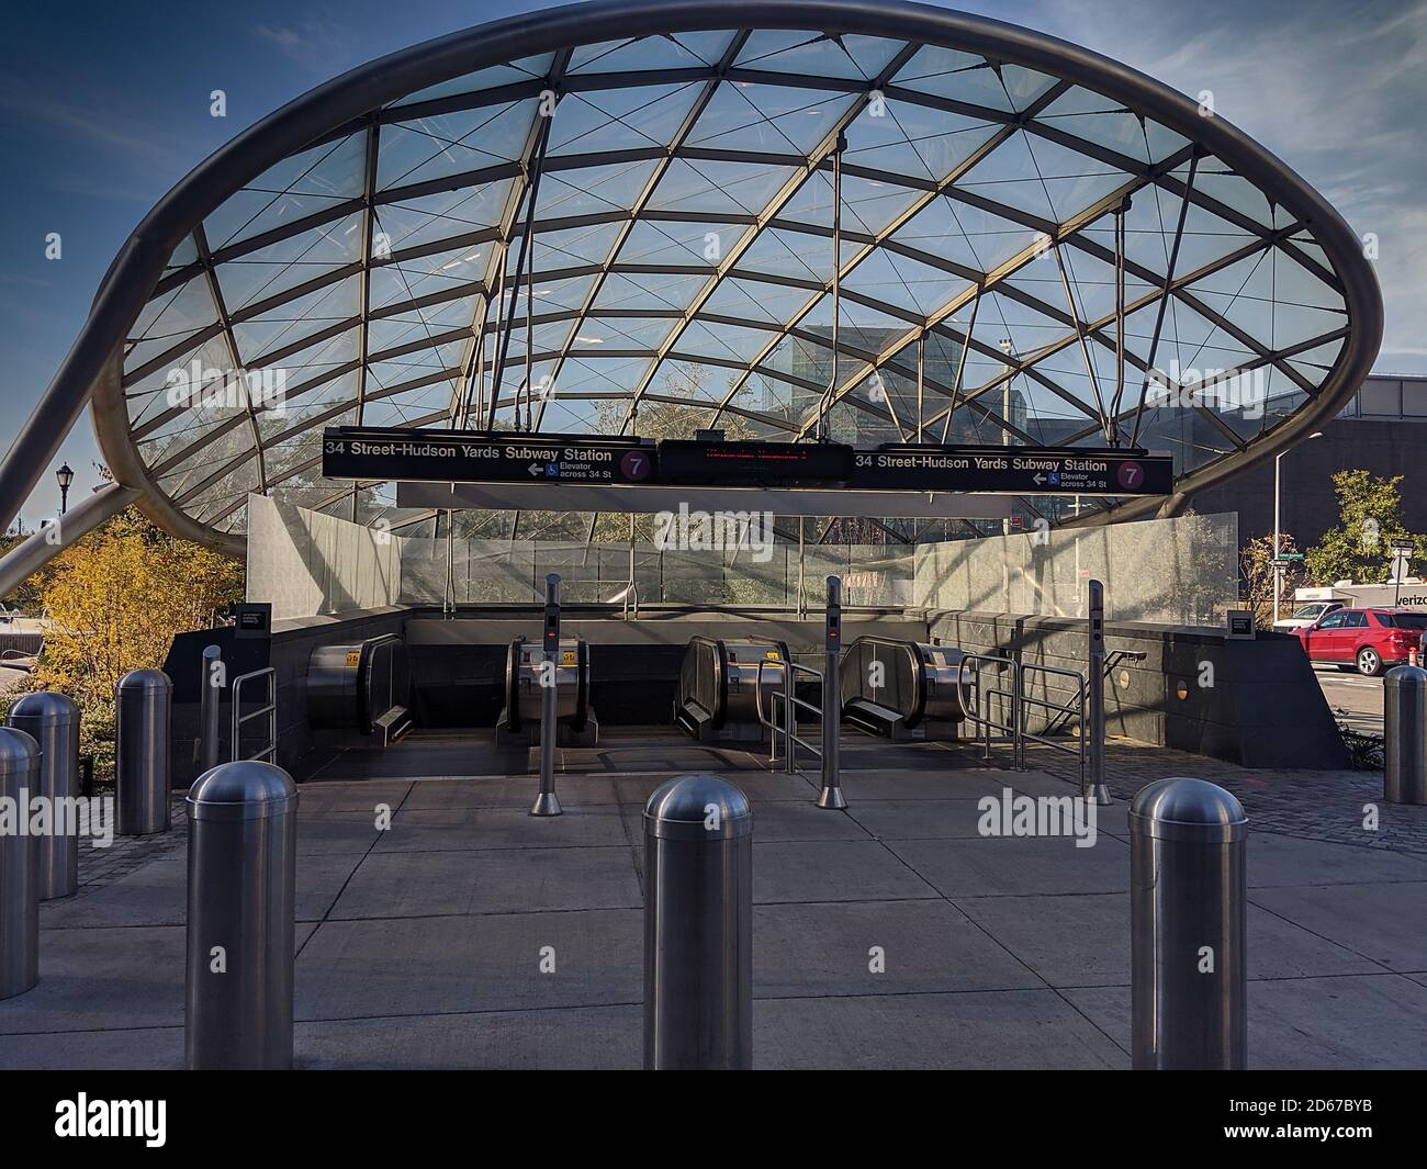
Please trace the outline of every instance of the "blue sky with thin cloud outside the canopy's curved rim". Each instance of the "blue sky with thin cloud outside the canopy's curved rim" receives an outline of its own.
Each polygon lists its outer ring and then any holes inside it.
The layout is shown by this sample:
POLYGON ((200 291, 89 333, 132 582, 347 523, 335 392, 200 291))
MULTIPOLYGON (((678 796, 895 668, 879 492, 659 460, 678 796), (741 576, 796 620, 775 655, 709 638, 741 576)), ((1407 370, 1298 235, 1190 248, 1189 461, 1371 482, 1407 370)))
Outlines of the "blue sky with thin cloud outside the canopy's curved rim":
MULTIPOLYGON (((16 432, 116 251, 207 154, 394 49, 539 3, 11 3, 0 47, 0 434, 16 432), (228 97, 227 118, 208 94, 228 97), (60 233, 63 258, 46 260, 60 233)), ((729 9, 739 4, 731 3, 729 9)), ((749 6, 755 7, 756 6, 749 6)), ((1217 110, 1378 236, 1377 368, 1427 373, 1427 0, 1007 0, 958 7, 1076 41, 1217 110)), ((731 23, 733 23, 731 20, 731 23)), ((60 452, 94 481, 88 415, 60 452)), ((56 462, 59 465, 59 462, 56 462)), ((59 504, 53 475, 31 520, 59 504)))

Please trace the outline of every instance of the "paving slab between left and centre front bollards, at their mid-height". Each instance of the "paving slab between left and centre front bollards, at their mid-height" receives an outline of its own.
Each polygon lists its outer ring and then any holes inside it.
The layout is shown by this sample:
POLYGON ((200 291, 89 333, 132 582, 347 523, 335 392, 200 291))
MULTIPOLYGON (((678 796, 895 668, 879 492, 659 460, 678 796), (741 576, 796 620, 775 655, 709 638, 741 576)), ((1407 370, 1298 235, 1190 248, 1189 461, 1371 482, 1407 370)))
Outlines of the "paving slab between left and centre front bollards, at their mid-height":
POLYGON ((298 958, 294 1009, 344 1019, 638 1003, 642 955, 642 909, 328 921, 298 958))

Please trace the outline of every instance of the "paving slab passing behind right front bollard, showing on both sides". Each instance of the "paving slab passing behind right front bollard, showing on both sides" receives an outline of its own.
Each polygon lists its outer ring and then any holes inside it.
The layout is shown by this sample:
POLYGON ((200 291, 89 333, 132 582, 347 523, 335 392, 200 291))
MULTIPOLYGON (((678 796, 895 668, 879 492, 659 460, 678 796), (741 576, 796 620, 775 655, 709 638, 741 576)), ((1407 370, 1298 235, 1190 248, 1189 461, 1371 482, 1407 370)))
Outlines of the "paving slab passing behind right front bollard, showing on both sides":
MULTIPOLYGON (((1052 986, 1127 985, 1130 901, 1100 896, 963 898, 972 921, 1052 986)), ((1249 978, 1380 973, 1360 953, 1249 906, 1249 978)))

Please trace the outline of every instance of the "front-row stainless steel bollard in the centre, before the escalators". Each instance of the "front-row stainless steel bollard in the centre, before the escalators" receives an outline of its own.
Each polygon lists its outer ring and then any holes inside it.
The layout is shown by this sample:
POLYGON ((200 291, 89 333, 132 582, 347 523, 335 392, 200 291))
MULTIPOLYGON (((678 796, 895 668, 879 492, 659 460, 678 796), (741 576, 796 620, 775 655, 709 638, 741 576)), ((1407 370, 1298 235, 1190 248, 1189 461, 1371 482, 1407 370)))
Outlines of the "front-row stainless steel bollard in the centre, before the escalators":
POLYGON ((644 809, 644 1066, 753 1066, 753 814, 716 775, 644 809))

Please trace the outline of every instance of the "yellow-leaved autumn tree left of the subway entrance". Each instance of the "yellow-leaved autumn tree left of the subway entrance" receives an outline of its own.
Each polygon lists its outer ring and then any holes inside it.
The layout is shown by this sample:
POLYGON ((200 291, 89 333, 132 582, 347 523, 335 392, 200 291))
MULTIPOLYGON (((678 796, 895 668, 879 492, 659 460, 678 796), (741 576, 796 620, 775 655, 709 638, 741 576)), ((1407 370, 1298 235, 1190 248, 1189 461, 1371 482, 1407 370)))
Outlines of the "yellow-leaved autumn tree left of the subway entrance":
POLYGON ((176 634, 207 628, 215 608, 241 601, 243 565, 127 508, 60 552, 39 588, 50 624, 33 685, 78 702, 84 749, 106 774, 116 682, 161 668, 176 634))

